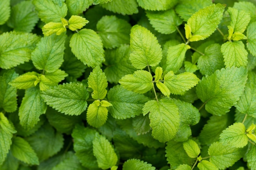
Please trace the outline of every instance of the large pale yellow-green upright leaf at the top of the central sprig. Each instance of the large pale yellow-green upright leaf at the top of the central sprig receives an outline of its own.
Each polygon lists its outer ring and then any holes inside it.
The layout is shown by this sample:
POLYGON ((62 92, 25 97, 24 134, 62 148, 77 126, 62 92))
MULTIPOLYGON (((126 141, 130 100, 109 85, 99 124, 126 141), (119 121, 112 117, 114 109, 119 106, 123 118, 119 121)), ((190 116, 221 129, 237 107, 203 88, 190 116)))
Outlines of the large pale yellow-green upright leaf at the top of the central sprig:
POLYGON ((132 66, 143 69, 156 66, 162 60, 162 49, 157 38, 143 26, 135 25, 130 33, 132 66))

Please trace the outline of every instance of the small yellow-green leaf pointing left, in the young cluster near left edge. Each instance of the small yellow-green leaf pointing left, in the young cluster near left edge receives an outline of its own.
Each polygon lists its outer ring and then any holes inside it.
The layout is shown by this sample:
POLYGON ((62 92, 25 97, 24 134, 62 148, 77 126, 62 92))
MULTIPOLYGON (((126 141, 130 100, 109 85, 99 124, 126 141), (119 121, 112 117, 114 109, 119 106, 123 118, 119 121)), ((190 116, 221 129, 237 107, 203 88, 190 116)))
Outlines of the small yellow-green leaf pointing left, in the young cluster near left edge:
POLYGON ((13 79, 9 84, 18 89, 27 89, 36 86, 38 80, 38 73, 32 71, 16 77, 16 79, 13 79))

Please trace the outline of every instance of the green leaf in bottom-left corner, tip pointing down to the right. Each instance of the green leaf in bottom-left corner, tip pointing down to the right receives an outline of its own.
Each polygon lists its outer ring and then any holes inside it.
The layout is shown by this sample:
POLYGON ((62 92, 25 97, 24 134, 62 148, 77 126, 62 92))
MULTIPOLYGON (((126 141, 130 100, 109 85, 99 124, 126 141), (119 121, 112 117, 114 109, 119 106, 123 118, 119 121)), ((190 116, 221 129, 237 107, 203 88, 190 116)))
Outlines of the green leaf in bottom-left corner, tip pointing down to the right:
POLYGON ((31 148, 29 143, 21 137, 12 139, 11 152, 14 157, 31 165, 39 165, 36 152, 31 148))

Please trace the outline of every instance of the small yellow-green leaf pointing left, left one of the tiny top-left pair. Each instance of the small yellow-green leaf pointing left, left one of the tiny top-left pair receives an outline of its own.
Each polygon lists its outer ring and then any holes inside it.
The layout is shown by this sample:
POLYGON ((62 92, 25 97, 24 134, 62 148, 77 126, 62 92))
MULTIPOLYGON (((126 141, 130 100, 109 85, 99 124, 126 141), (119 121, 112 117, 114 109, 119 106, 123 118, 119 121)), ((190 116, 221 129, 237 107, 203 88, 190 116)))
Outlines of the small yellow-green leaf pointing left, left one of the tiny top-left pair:
POLYGON ((45 36, 50 36, 54 33, 56 33, 56 35, 61 35, 65 31, 67 31, 67 29, 60 22, 48 22, 43 26, 42 31, 45 36))

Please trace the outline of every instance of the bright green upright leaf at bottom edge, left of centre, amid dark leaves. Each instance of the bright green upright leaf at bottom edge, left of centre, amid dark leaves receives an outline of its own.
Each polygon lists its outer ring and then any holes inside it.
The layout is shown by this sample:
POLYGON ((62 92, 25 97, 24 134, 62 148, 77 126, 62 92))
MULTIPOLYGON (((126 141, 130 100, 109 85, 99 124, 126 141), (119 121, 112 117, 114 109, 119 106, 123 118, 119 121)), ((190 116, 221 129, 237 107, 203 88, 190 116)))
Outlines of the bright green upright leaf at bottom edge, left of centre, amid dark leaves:
POLYGON ((106 170, 117 164, 117 154, 108 139, 96 133, 92 146, 99 168, 106 170))

